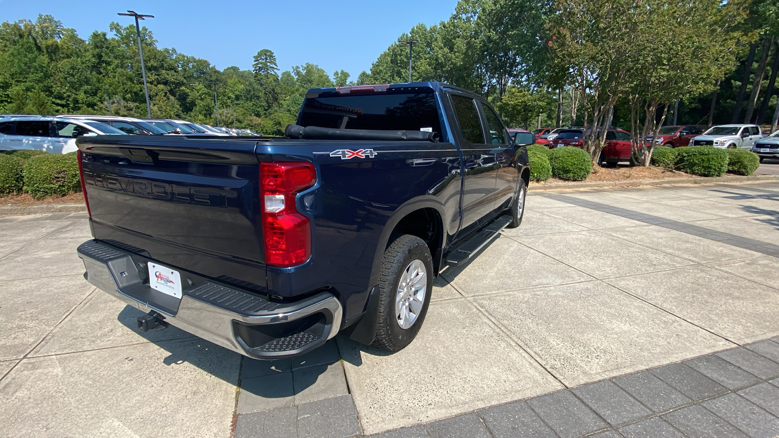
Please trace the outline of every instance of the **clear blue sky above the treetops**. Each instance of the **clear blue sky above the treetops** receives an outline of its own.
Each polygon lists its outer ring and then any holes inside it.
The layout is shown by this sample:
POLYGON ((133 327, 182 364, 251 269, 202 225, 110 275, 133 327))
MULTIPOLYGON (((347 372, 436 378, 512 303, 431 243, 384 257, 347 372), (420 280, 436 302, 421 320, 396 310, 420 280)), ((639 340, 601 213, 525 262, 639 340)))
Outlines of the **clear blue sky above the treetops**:
POLYGON ((86 39, 127 9, 155 16, 146 21, 159 47, 175 48, 224 69, 252 68, 252 56, 269 48, 283 71, 305 62, 332 75, 344 69, 356 79, 403 32, 417 23, 437 24, 454 12, 456 0, 251 2, 99 0, 0 0, 0 22, 51 14, 86 39))

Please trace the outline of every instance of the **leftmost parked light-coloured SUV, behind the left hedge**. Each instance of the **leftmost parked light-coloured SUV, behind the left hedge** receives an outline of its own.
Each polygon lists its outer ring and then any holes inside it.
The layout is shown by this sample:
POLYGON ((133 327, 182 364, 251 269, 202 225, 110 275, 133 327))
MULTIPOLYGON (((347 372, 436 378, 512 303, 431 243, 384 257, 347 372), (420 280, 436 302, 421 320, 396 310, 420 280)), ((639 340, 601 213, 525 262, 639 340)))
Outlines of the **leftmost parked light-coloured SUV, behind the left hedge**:
POLYGON ((34 149, 51 154, 68 154, 76 148, 76 137, 102 134, 125 135, 113 126, 91 120, 64 117, 0 118, 0 150, 34 149))

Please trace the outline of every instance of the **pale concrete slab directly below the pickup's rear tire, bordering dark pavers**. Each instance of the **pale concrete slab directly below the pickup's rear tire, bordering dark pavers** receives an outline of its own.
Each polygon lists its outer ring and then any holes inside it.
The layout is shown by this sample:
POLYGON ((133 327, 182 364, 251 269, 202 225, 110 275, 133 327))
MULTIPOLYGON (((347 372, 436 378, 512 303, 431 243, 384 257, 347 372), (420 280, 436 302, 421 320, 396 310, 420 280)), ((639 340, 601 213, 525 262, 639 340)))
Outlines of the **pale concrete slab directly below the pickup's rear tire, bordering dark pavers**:
POLYGON ((365 434, 562 387, 463 299, 432 303, 414 342, 396 353, 337 340, 365 434))

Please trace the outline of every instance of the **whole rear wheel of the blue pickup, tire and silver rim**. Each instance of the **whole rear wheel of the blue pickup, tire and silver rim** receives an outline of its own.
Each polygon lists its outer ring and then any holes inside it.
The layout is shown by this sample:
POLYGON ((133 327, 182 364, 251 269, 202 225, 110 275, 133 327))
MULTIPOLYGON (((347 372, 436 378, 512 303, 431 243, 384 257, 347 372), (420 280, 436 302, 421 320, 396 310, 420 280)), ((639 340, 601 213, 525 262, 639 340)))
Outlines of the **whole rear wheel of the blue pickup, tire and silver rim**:
POLYGON ((400 351, 417 336, 430 304, 433 262, 424 240, 401 235, 384 252, 376 344, 400 351))

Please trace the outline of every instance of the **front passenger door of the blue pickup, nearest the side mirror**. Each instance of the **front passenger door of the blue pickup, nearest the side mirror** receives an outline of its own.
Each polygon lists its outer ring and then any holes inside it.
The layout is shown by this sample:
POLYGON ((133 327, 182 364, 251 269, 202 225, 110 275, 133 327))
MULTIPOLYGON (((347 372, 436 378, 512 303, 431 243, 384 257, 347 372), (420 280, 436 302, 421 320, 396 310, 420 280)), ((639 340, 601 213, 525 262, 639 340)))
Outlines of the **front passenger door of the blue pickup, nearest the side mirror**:
POLYGON ((484 112, 487 125, 487 141, 492 147, 490 154, 495 155, 495 194, 492 203, 493 212, 504 210, 509 207, 513 200, 516 187, 519 184, 520 174, 514 167, 514 152, 516 148, 509 144, 509 137, 506 128, 500 118, 495 114, 495 110, 484 102, 481 104, 481 111, 484 112))

